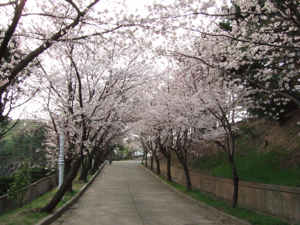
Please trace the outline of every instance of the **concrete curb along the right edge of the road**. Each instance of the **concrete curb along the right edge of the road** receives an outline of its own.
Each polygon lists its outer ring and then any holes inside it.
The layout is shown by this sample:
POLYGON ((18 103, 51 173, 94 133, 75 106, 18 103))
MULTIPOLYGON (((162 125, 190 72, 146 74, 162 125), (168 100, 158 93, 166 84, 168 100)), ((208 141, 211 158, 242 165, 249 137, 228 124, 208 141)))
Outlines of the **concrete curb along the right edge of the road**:
POLYGON ((145 168, 144 166, 142 166, 141 164, 139 164, 142 168, 144 168, 148 173, 152 174, 152 176, 157 179, 159 182, 161 182, 165 187, 167 187, 170 191, 172 191, 173 193, 175 193, 177 196, 192 202, 196 205, 198 205, 199 207, 203 208, 205 211, 207 211, 208 217, 210 219, 218 219, 220 223, 223 223, 224 221, 228 222, 228 223, 233 223, 235 225, 251 225, 250 223, 248 223, 245 220, 241 220, 238 219, 232 215, 226 214, 224 212, 221 212, 219 210, 217 210, 216 208, 213 208, 203 202, 199 202, 195 199, 193 199, 190 196, 185 195, 184 193, 180 192, 179 190, 175 189, 174 187, 170 186, 167 182, 164 182, 162 179, 160 179, 158 176, 156 176, 154 173, 152 173, 150 170, 148 170, 147 168, 145 168))

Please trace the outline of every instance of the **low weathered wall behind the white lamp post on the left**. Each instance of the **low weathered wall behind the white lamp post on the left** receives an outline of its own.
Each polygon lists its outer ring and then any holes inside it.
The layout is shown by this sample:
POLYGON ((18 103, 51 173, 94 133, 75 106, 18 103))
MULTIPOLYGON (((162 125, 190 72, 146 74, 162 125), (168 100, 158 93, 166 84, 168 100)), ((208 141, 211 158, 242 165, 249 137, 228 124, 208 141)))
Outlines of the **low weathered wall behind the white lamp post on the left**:
MULTIPOLYGON (((58 183, 57 179, 57 175, 52 175, 33 183, 30 190, 31 202, 46 193, 51 187, 55 187, 58 183)), ((26 191, 22 205, 26 205, 28 203, 28 191, 26 191)), ((0 196, 0 215, 17 207, 18 203, 16 200, 7 198, 7 195, 0 196)))

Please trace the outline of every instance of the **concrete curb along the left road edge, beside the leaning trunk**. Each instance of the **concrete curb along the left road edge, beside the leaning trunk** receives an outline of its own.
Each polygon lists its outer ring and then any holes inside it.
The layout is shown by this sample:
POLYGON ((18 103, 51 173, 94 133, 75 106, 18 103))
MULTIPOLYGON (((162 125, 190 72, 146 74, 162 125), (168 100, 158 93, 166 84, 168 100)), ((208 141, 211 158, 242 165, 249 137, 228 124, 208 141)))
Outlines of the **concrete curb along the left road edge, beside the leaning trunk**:
POLYGON ((65 211, 70 208, 85 192, 85 190, 91 185, 91 183, 94 181, 96 176, 100 173, 102 170, 103 166, 106 164, 107 161, 102 164, 100 169, 91 177, 91 179, 74 195, 69 201, 64 203, 61 207, 56 209, 52 214, 48 215, 47 217, 43 218, 42 220, 38 221, 35 225, 49 225, 52 223, 54 220, 58 219, 65 211))

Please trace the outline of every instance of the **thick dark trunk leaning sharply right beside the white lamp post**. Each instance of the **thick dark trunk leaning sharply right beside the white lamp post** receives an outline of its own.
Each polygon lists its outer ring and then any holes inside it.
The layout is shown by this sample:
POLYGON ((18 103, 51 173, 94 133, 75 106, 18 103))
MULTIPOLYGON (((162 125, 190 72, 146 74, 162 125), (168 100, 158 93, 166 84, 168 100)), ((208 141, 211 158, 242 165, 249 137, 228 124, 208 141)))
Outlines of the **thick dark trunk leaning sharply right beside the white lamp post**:
POLYGON ((60 188, 55 193, 55 195, 53 196, 51 201, 47 205, 45 205, 44 208, 41 208, 39 210, 40 213, 43 213, 43 212, 51 213, 53 211, 53 209, 56 207, 58 202, 64 196, 64 193, 66 193, 66 191, 68 190, 68 187, 70 186, 70 184, 76 178, 77 172, 79 170, 79 167, 80 167, 83 159, 84 159, 84 155, 80 155, 80 157, 76 160, 76 162, 75 162, 73 168, 71 169, 70 173, 68 174, 68 176, 66 177, 64 182, 61 184, 60 188))

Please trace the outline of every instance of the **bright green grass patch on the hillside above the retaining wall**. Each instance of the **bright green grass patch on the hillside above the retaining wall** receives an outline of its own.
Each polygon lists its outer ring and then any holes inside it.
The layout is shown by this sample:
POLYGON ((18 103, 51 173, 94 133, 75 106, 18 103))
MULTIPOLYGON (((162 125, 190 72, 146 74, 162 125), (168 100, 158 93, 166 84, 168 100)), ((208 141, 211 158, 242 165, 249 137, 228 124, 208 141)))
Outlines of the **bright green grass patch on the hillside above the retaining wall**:
MULTIPOLYGON (((237 175, 242 181, 300 187, 300 168, 282 165, 280 161, 285 157, 287 156, 284 153, 276 150, 260 153, 249 151, 235 155, 237 175)), ((208 175, 232 178, 225 154, 220 158, 217 156, 198 158, 190 166, 208 175)))

